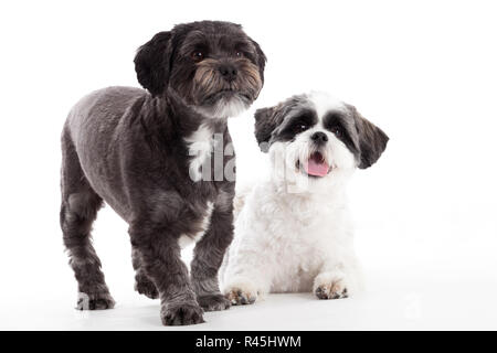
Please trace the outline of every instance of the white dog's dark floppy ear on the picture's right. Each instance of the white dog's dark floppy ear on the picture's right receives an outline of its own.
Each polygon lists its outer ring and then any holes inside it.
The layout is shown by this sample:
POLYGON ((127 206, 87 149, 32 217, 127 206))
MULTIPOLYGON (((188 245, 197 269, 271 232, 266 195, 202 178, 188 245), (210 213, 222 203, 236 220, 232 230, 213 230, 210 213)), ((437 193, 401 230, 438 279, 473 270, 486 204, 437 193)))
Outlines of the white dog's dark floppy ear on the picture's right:
POLYGON ((379 127, 362 117, 353 106, 349 106, 356 120, 356 127, 359 133, 359 148, 361 160, 360 169, 367 169, 374 164, 383 153, 389 141, 389 137, 379 127))

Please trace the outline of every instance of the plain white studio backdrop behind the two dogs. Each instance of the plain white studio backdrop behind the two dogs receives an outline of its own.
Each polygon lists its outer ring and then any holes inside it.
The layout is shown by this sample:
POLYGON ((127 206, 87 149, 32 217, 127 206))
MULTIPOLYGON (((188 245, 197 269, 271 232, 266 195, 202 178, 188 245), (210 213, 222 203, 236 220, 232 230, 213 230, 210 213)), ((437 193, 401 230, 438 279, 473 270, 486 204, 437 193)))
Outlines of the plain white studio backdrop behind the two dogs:
MULTIPOLYGON (((260 98, 230 120, 239 181, 267 172, 253 136, 256 108, 309 89, 342 98, 391 138, 350 185, 370 288, 414 298, 415 308, 440 297, 425 306, 435 313, 417 308, 414 318, 446 328, 473 313, 440 308, 473 296, 495 314, 496 15, 491 1, 2 2, 0 328, 43 327, 51 319, 33 308, 75 302, 59 227, 60 132, 70 108, 93 89, 138 86, 137 47, 204 19, 243 24, 268 57, 260 98)), ((119 302, 133 293, 127 226, 106 207, 94 236, 119 302)), ((480 319, 466 328, 491 327, 480 319)))

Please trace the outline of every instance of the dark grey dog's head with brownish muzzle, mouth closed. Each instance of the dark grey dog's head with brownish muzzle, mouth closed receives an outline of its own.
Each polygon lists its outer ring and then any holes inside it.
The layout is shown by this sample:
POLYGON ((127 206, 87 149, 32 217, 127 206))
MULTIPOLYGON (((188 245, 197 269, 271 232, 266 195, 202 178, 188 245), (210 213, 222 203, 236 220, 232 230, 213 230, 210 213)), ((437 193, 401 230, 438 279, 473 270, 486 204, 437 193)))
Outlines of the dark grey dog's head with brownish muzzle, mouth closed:
POLYGON ((234 116, 258 96, 266 57, 241 25, 202 21, 157 33, 135 57, 138 82, 154 96, 168 87, 210 117, 234 116))

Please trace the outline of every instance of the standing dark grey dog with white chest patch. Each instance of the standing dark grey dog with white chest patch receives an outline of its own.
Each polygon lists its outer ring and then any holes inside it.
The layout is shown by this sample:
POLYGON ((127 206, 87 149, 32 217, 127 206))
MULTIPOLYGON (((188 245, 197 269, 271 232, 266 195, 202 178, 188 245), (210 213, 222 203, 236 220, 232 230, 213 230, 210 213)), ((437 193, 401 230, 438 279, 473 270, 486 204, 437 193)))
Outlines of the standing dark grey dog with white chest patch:
POLYGON ((212 162, 212 136, 231 143, 226 118, 257 98, 265 61, 237 24, 180 24, 135 57, 148 92, 105 88, 71 110, 62 133, 61 227, 78 309, 114 307, 91 242, 104 201, 129 225, 135 288, 160 298, 163 324, 200 323, 202 308, 230 307, 218 269, 233 237, 234 180, 223 176, 233 158, 212 162), (221 178, 203 178, 205 164, 221 178), (190 276, 180 258, 184 240, 197 242, 190 276))

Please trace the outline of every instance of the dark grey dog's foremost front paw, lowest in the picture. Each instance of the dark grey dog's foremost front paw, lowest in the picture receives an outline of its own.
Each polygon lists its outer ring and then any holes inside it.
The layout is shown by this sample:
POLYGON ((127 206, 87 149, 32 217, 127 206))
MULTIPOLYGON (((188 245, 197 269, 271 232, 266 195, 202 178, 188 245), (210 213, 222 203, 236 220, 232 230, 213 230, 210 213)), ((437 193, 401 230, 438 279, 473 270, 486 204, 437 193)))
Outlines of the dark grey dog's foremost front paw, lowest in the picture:
POLYGON ((162 306, 160 310, 162 324, 187 325, 205 322, 203 320, 203 310, 197 302, 182 302, 162 306))

